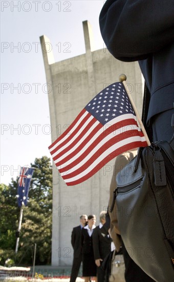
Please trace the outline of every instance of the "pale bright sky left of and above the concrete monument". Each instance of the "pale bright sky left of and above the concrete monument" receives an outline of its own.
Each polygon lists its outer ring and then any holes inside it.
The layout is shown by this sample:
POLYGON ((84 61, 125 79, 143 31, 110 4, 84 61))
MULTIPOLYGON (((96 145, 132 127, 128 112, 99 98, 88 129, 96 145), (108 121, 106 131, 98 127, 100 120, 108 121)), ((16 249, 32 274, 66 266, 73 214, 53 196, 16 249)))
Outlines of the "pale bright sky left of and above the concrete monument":
POLYGON ((1 183, 20 166, 51 155, 51 125, 39 37, 51 42, 55 62, 85 53, 82 22, 104 46, 99 14, 102 0, 1 1, 1 183))

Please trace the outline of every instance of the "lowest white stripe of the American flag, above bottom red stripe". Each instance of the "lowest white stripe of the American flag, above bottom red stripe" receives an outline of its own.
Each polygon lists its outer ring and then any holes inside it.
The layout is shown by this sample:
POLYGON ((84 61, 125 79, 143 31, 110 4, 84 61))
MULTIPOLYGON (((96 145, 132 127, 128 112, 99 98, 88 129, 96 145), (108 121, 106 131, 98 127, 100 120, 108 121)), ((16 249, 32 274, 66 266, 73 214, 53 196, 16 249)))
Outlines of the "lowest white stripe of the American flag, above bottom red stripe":
MULTIPOLYGON (((102 160, 109 154, 111 154, 113 151, 115 151, 118 148, 121 148, 124 145, 130 144, 130 143, 134 143, 134 142, 138 142, 140 141, 144 142, 145 141, 145 137, 140 137, 140 136, 133 136, 133 137, 129 137, 126 138, 124 140, 119 141, 117 144, 114 144, 113 146, 111 146, 110 148, 108 148, 106 151, 104 151, 94 162, 93 164, 91 164, 91 166, 89 166, 86 170, 82 171, 81 173, 79 173, 78 175, 69 178, 69 179, 64 179, 64 181, 66 183, 70 183, 73 182, 75 180, 80 179, 81 177, 83 177, 84 175, 88 174, 90 171, 92 171, 100 162, 102 162, 102 160)), ((70 173, 72 171, 70 170, 70 173)), ((63 175, 63 173, 62 173, 63 175)), ((64 172, 64 175, 68 175, 66 174, 66 172, 64 172)))

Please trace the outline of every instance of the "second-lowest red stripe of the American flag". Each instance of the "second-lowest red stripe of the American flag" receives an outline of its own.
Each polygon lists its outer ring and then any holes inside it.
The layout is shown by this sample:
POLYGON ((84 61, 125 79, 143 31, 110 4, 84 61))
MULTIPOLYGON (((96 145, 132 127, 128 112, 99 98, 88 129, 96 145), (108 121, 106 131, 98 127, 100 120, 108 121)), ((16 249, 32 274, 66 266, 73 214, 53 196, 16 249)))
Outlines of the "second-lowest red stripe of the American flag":
MULTIPOLYGON (((101 148, 99 148, 95 154, 92 155, 92 157, 87 160, 87 162, 82 165, 79 169, 73 171, 72 173, 66 174, 63 177, 63 179, 68 179, 68 178, 72 178, 76 175, 78 175, 79 173, 81 173, 82 171, 84 171, 86 168, 88 168, 104 151, 106 151, 108 148, 110 148, 111 146, 113 146, 114 144, 120 142, 121 140, 126 139, 127 137, 133 137, 133 136, 138 136, 138 131, 137 130, 129 130, 129 134, 127 134, 128 132, 123 132, 120 133, 117 136, 114 136, 113 138, 111 138, 110 140, 108 140, 108 142, 106 142, 101 148)), ((98 143, 97 143, 98 144, 98 143)), ((142 146, 142 144, 140 145, 142 146)), ((91 149, 89 148, 89 151, 91 152, 91 149)), ((75 164, 71 164, 71 166, 67 166, 67 168, 71 171, 71 167, 74 167, 75 165, 77 165, 79 162, 75 161, 75 164)), ((67 171, 67 169, 66 169, 67 171)), ((59 170, 60 172, 60 170, 59 170)))

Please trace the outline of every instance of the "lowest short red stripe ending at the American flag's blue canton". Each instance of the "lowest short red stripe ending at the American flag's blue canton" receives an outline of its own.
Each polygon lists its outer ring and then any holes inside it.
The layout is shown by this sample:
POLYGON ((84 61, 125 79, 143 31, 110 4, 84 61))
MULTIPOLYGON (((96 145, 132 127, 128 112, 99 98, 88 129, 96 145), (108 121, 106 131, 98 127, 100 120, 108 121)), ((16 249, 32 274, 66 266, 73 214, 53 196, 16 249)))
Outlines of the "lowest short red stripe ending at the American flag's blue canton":
POLYGON ((74 157, 80 150, 83 149, 83 147, 90 141, 90 139, 103 127, 102 124, 98 124, 93 131, 88 135, 88 137, 86 137, 83 142, 80 144, 80 146, 78 146, 71 154, 69 154, 67 157, 63 158, 62 160, 60 160, 60 162, 56 163, 56 166, 61 166, 64 163, 68 162, 69 159, 71 159, 72 157, 74 157))

